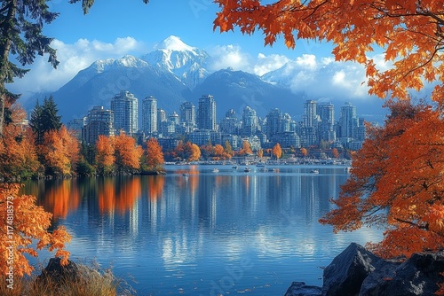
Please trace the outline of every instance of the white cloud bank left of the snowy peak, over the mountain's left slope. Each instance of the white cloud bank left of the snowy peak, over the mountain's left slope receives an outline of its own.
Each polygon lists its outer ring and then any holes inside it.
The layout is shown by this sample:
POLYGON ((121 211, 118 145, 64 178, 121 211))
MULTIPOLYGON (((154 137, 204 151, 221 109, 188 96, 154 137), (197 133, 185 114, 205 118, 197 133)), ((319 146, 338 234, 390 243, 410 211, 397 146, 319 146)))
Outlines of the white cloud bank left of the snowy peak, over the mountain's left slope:
POLYGON ((68 44, 56 39, 52 41, 52 47, 57 50, 60 62, 57 69, 47 62, 47 56, 36 58, 29 66, 31 71, 8 86, 12 92, 21 93, 26 98, 35 92, 55 91, 98 59, 121 58, 125 54, 139 55, 147 51, 144 43, 132 37, 117 38, 114 43, 79 39, 68 44))

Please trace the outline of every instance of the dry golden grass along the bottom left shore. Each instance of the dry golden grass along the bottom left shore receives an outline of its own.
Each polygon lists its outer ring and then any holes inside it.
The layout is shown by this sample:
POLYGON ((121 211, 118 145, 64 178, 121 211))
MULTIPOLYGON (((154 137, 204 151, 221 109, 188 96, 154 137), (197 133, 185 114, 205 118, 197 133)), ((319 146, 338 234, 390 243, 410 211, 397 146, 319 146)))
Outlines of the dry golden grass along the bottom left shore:
POLYGON ((36 275, 15 278, 13 289, 0 277, 0 295, 4 296, 130 296, 135 292, 131 286, 115 277, 111 269, 100 272, 97 266, 77 264, 78 277, 52 277, 40 279, 36 275))

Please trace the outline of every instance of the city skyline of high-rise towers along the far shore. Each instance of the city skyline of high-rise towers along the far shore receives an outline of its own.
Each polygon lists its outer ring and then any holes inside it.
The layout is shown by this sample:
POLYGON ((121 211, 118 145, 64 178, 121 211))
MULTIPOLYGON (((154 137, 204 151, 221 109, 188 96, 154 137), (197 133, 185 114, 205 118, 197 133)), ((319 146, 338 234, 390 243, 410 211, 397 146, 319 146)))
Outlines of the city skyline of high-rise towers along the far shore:
MULTIPOLYGON (((109 132, 106 136, 118 134, 119 130, 123 130, 130 135, 141 136, 143 139, 147 137, 162 139, 165 145, 172 147, 175 143, 177 144, 178 136, 185 136, 194 144, 199 145, 209 142, 224 144, 228 141, 234 148, 240 147, 242 141, 247 139, 257 149, 280 143, 283 148, 330 144, 331 147, 358 150, 365 139, 365 120, 357 117, 356 107, 349 102, 340 107, 339 117, 335 118, 333 104, 306 100, 303 104, 302 121, 295 121, 289 113, 278 108, 271 109, 265 117, 260 117, 250 105, 244 107, 240 117, 233 109, 230 109, 226 111, 224 118, 217 119, 217 99, 212 95, 202 95, 197 108, 189 101, 181 103, 178 106, 179 113, 176 111, 166 113, 162 108, 156 108, 157 99, 153 96, 142 100, 140 107, 142 112, 138 113, 134 110, 134 106, 138 106, 138 98, 129 91, 122 91, 112 97, 111 101, 120 102, 120 107, 114 106, 114 110, 113 108, 107 110, 103 106, 95 106, 83 121, 74 120, 83 122, 86 131, 79 134, 84 135, 87 143, 94 143, 94 136, 91 135, 96 135, 97 140, 99 130, 109 131, 110 125, 114 125, 115 131, 109 132), (123 102, 126 102, 126 105, 123 102), (126 110, 128 114, 125 115, 123 110, 126 110), (105 113, 107 116, 104 117, 105 113), (108 113, 113 113, 113 116, 108 113), (141 114, 141 128, 130 129, 130 122, 140 120, 139 114, 141 114), (92 116, 92 121, 90 116, 92 116), (98 118, 106 121, 106 128, 90 126, 97 125, 98 118), (132 120, 130 121, 129 118, 132 120), (126 126, 123 124, 125 119, 128 121, 126 126), (95 134, 91 130, 96 130, 95 134)), ((70 126, 77 129, 79 127, 74 123, 70 126)))

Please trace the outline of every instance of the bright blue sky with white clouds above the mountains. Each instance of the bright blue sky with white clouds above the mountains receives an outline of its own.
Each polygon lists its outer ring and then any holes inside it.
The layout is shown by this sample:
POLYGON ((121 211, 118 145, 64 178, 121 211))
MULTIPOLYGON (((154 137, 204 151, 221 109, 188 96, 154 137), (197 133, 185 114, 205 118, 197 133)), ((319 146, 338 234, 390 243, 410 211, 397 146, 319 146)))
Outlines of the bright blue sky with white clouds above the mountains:
MULTIPOLYGON (((289 64, 289 69, 297 69, 297 77, 288 77, 295 81, 292 89, 307 90, 310 99, 329 99, 333 92, 345 100, 369 99, 362 85, 363 67, 335 62, 331 45, 298 41, 296 49, 289 50, 282 39, 273 47, 265 47, 261 32, 242 35, 237 30, 221 34, 218 29, 213 31, 218 6, 211 0, 151 0, 149 4, 142 0, 96 0, 86 15, 80 3, 67 2, 49 2, 51 10, 60 15, 44 27, 44 34, 54 38, 52 46, 57 49, 60 65, 54 70, 47 57, 37 58, 25 78, 9 86, 22 93, 24 99, 35 92, 58 90, 98 59, 126 54, 139 57, 154 51, 155 44, 170 35, 209 52, 216 60, 210 70, 231 66, 262 75, 289 64)), ((385 66, 383 61, 381 66, 385 66)))

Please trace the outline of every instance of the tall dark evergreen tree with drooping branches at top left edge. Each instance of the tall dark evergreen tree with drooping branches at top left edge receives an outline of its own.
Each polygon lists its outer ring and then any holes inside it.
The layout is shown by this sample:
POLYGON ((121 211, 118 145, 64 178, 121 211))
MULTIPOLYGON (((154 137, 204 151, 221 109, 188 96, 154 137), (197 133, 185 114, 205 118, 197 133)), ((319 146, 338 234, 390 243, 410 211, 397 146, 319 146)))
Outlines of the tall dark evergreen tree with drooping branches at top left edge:
MULTIPOLYGON (((70 0, 75 4, 80 0, 70 0)), ((48 62, 56 68, 59 65, 56 51, 51 47, 52 38, 42 34, 44 24, 50 24, 59 13, 48 10, 49 0, 4 0, 0 1, 0 136, 3 136, 5 116, 9 114, 6 103, 12 105, 20 95, 6 90, 5 84, 28 73, 12 63, 17 60, 21 66, 31 65, 36 54, 48 54, 48 62), (6 112, 5 112, 6 111, 6 112)), ((145 4, 148 0, 143 0, 145 4)), ((94 0, 82 0, 83 13, 87 13, 94 0)))

